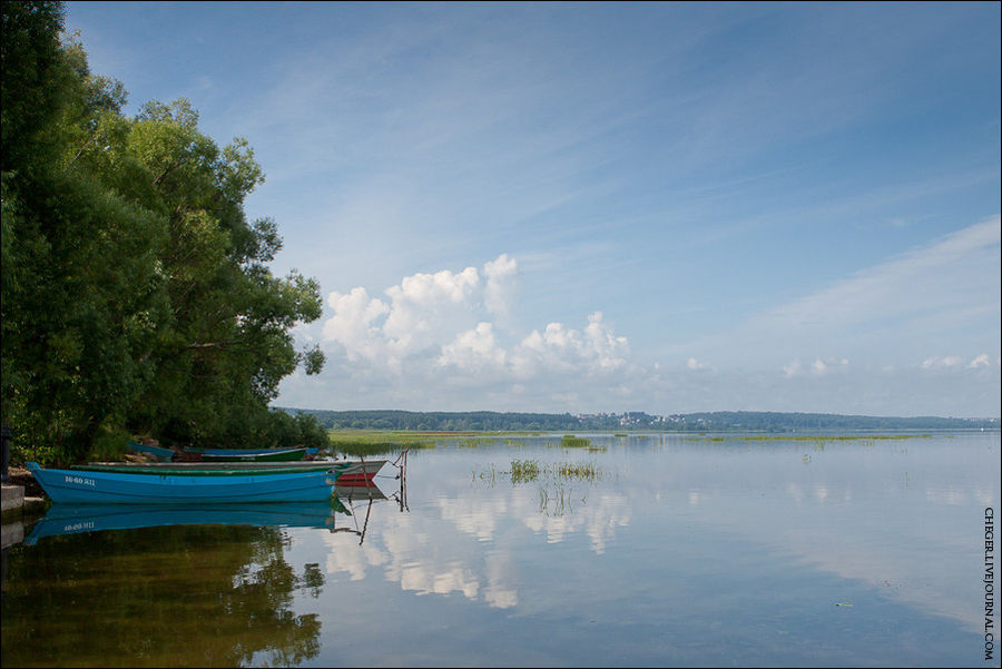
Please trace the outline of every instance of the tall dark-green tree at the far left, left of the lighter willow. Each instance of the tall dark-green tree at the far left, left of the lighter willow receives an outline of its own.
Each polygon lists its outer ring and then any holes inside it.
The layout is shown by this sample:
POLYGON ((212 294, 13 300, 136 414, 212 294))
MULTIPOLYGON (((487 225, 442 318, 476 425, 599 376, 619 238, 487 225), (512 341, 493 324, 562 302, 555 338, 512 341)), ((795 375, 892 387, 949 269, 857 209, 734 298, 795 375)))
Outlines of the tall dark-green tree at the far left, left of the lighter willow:
POLYGON ((81 141, 100 135, 105 150, 118 148, 120 85, 91 77, 78 45, 59 46, 61 8, 16 2, 3 12, 3 419, 43 453, 76 459, 141 385, 137 344, 157 293, 147 277, 166 230, 108 187, 118 170, 81 141), (26 99, 48 107, 32 109, 31 122, 9 118, 26 99))

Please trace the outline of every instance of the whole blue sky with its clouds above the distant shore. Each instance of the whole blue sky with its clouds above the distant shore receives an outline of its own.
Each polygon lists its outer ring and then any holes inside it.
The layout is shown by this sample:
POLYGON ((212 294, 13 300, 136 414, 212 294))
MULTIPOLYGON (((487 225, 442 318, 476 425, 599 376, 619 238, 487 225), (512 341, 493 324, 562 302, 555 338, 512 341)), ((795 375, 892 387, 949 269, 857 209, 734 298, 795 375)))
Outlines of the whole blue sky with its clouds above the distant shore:
POLYGON ((301 409, 999 416, 1000 4, 68 2, 317 279, 301 409))

